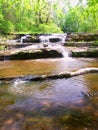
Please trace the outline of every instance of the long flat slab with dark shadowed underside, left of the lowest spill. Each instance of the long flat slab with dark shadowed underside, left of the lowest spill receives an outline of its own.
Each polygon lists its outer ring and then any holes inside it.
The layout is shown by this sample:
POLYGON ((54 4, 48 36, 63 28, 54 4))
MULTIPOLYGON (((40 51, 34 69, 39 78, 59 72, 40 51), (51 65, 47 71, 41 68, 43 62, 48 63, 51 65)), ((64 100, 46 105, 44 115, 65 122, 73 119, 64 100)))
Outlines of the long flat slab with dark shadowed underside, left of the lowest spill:
POLYGON ((25 60, 40 58, 61 58, 63 57, 60 47, 47 46, 28 46, 20 49, 7 50, 0 52, 0 60, 25 60))

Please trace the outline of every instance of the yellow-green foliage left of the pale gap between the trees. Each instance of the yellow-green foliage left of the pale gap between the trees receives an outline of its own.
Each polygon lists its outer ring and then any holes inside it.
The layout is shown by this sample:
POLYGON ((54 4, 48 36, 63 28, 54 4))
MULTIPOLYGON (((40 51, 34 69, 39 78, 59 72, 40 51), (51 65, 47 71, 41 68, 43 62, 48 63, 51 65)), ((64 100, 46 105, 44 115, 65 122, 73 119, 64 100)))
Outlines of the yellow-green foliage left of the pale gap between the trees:
POLYGON ((60 33, 48 0, 1 0, 1 33, 60 33))

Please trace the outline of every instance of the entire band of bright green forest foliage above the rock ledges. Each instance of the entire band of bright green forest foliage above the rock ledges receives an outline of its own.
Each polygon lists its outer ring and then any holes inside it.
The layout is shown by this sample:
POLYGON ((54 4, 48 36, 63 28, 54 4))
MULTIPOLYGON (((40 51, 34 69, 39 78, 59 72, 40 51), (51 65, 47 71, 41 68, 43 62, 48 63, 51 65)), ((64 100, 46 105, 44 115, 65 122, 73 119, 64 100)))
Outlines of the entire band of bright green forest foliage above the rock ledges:
POLYGON ((0 0, 0 33, 97 32, 98 0, 83 1, 0 0))

